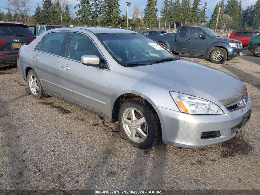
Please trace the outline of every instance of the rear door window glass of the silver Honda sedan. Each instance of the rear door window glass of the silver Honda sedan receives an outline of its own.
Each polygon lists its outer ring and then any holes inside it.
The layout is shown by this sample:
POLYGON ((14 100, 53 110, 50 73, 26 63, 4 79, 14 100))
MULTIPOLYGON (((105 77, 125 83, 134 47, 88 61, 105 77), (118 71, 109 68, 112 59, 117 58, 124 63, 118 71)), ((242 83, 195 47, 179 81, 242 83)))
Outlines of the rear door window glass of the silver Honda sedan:
POLYGON ((66 32, 54 32, 47 34, 42 44, 42 51, 54 55, 60 55, 62 42, 65 35, 66 32))

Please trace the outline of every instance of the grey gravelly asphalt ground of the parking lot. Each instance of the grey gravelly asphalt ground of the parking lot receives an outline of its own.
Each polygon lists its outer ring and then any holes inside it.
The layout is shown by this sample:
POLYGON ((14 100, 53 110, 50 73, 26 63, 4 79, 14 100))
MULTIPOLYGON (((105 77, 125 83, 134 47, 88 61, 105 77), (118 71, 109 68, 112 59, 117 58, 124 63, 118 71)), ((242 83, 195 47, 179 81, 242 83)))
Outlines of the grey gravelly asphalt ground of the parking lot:
POLYGON ((259 190, 260 58, 247 50, 224 64, 180 56, 245 83, 253 113, 231 140, 197 149, 160 143, 140 150, 123 138, 118 123, 54 97, 34 100, 16 65, 1 65, 0 189, 259 190))

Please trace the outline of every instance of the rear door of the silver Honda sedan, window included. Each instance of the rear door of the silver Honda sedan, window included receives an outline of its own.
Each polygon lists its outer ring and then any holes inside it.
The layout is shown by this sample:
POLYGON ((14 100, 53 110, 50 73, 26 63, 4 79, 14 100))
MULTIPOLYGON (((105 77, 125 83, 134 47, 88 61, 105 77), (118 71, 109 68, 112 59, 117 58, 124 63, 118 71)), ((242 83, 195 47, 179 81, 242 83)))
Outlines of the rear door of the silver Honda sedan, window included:
POLYGON ((45 90, 61 96, 59 64, 66 32, 48 33, 31 54, 31 63, 37 71, 45 90))

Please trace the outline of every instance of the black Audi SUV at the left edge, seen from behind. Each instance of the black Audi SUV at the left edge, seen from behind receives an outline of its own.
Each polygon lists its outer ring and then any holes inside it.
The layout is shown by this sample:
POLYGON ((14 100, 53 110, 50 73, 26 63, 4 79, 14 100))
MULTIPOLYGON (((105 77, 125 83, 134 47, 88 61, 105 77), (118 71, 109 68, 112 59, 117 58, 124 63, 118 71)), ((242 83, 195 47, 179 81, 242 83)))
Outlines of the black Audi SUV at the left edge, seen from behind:
POLYGON ((22 45, 28 45, 35 35, 21 22, 0 21, 0 64, 16 63, 22 45))

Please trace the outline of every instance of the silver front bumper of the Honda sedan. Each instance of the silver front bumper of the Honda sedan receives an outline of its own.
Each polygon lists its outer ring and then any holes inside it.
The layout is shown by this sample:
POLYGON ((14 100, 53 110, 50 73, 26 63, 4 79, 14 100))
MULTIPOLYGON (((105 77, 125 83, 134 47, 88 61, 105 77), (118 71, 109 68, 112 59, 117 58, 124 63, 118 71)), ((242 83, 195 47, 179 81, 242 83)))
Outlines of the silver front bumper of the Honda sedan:
POLYGON ((200 148, 224 142, 240 132, 242 128, 232 128, 242 122, 244 114, 252 107, 252 101, 249 96, 246 107, 233 112, 222 106, 220 108, 225 112, 222 115, 191 115, 153 107, 161 122, 162 140, 165 144, 182 148, 200 148), (220 131, 220 137, 201 139, 202 132, 211 131, 220 131))

